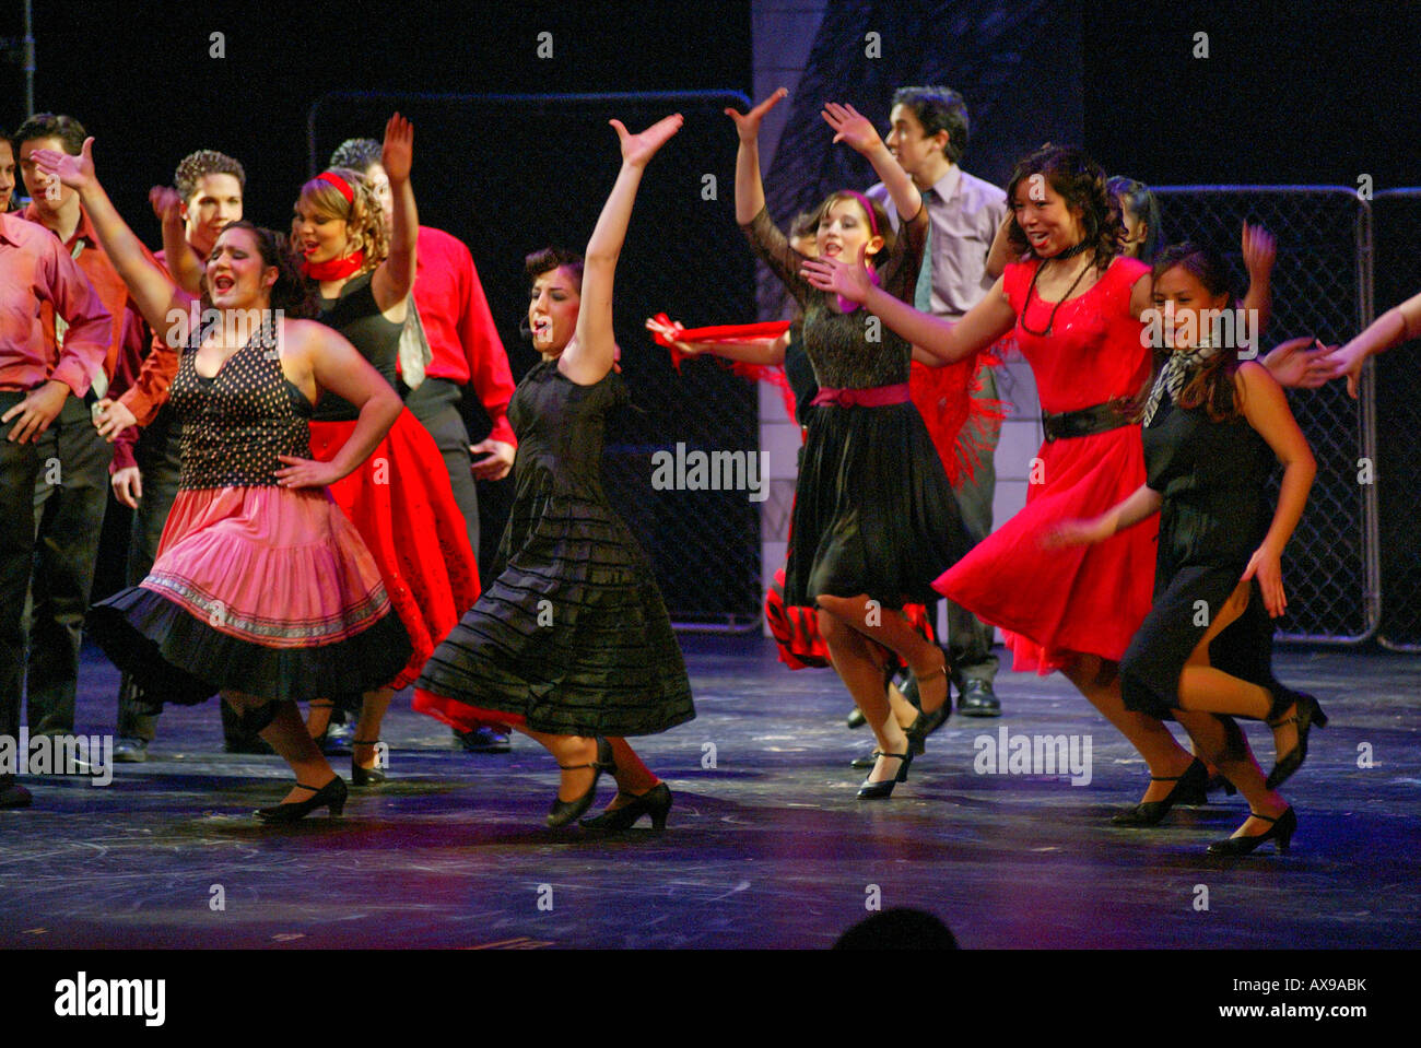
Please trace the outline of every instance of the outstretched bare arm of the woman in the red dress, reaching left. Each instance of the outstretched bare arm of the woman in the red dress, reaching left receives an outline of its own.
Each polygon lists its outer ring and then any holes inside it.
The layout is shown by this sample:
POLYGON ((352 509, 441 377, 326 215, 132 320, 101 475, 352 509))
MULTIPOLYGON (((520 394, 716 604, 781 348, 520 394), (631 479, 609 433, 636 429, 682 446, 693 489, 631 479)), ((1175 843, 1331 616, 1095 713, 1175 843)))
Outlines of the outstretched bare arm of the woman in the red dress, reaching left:
POLYGON ((1016 314, 1006 301, 1000 280, 962 320, 949 322, 918 312, 884 288, 875 287, 864 268, 863 249, 857 263, 809 258, 801 273, 818 290, 861 302, 884 324, 942 364, 953 364, 986 349, 1016 325, 1016 314))

